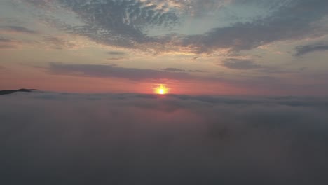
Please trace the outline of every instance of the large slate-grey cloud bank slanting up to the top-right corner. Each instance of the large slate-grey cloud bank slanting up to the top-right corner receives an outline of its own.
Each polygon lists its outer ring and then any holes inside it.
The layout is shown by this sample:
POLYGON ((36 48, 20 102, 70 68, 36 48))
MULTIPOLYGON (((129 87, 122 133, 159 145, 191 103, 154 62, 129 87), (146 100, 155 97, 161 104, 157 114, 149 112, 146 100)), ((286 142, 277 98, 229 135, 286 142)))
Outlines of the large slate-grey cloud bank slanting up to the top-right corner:
POLYGON ((311 23, 327 13, 328 1, 291 1, 289 6, 280 6, 267 18, 215 28, 203 35, 186 36, 182 46, 192 46, 197 53, 211 53, 218 48, 251 50, 273 41, 322 35, 327 32, 311 23), (304 15, 304 9, 310 15, 304 15))

